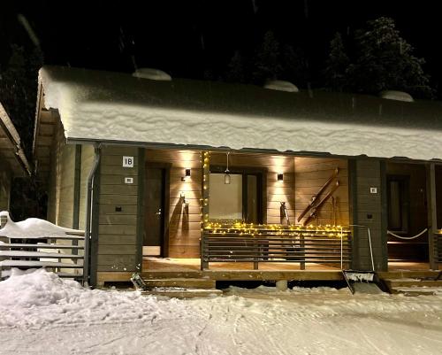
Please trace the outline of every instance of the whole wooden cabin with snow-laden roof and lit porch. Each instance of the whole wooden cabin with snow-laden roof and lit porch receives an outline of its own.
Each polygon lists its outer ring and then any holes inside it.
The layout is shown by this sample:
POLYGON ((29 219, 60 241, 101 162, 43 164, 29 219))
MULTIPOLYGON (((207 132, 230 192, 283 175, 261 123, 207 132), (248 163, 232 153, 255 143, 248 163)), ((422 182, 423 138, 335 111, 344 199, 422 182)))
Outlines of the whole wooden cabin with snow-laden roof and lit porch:
POLYGON ((36 173, 91 283, 144 257, 437 267, 442 103, 148 78, 40 71, 36 173))

